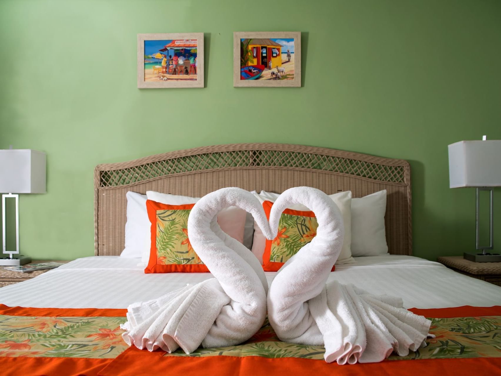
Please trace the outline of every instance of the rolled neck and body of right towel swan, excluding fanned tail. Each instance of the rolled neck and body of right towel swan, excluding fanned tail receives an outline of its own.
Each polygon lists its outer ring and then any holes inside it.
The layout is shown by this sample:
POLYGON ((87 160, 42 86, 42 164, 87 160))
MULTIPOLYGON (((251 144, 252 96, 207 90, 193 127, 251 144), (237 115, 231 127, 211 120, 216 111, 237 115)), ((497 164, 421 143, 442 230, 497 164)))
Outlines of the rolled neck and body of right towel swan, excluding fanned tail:
POLYGON ((291 188, 280 195, 270 212, 270 227, 277 231, 284 209, 303 204, 318 221, 317 235, 282 266, 268 291, 268 318, 278 337, 286 342, 323 343, 308 307, 322 292, 343 244, 344 227, 339 208, 322 191, 291 188))

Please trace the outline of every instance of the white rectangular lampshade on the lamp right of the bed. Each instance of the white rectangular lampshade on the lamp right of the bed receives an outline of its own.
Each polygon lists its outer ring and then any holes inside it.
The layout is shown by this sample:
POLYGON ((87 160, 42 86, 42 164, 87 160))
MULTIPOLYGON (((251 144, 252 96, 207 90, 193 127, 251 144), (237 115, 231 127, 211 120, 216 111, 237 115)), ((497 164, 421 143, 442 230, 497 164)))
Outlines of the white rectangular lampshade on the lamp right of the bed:
POLYGON ((449 186, 501 186, 501 140, 450 144, 449 186))

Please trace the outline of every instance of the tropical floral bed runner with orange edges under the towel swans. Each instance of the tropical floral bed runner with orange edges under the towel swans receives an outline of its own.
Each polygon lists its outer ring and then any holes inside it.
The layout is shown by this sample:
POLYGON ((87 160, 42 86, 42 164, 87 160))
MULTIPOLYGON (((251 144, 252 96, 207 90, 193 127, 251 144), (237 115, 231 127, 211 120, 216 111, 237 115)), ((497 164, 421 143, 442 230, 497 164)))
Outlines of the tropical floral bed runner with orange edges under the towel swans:
POLYGON ((280 341, 268 322, 237 346, 187 355, 129 347, 125 309, 0 305, 0 369, 6 375, 470 375, 501 374, 501 306, 411 309, 433 321, 435 338, 408 356, 380 363, 326 363, 324 348, 280 341), (436 370, 436 372, 435 372, 436 370), (478 373, 480 372, 480 373, 478 373))

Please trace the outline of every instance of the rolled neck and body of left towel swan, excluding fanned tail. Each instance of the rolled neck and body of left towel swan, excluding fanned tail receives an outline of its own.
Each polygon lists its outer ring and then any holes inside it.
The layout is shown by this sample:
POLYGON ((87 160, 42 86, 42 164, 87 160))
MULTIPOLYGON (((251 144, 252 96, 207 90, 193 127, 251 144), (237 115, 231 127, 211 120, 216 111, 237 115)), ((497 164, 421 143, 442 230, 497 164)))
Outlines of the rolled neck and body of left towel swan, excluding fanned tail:
POLYGON ((202 342, 204 347, 241 343, 252 337, 266 318, 268 281, 263 267, 252 252, 225 234, 217 223, 217 214, 230 206, 252 214, 263 234, 273 239, 263 206, 252 193, 240 188, 212 192, 191 210, 188 218, 191 245, 231 299, 209 329, 202 342))

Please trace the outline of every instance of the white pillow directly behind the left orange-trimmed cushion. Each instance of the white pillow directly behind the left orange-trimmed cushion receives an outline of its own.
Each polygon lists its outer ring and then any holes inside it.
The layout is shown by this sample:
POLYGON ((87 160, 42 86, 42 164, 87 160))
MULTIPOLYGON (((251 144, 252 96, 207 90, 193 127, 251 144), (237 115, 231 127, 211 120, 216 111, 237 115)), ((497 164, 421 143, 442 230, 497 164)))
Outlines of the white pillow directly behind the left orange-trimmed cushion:
MULTIPOLYGON (((169 195, 154 191, 147 191, 146 196, 148 197, 148 200, 156 201, 157 203, 167 204, 167 205, 195 204, 198 200, 200 200, 199 197, 169 195)), ((144 210, 146 211, 146 204, 144 210)), ((230 237, 238 240, 240 243, 243 243, 243 231, 245 227, 245 219, 246 219, 246 212, 243 209, 237 208, 236 206, 232 206, 221 210, 221 212, 217 216, 217 223, 221 227, 222 231, 224 231, 230 237)), ((150 224, 149 219, 148 219, 148 224, 150 224)), ((148 230, 148 236, 150 236, 150 232, 151 232, 151 227, 148 230)), ((143 262, 146 263, 148 262, 150 258, 150 248, 151 248, 151 240, 150 244, 148 245, 148 250, 145 253, 143 253, 141 257, 141 260, 143 262)))

